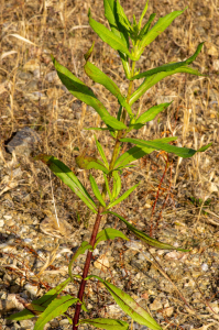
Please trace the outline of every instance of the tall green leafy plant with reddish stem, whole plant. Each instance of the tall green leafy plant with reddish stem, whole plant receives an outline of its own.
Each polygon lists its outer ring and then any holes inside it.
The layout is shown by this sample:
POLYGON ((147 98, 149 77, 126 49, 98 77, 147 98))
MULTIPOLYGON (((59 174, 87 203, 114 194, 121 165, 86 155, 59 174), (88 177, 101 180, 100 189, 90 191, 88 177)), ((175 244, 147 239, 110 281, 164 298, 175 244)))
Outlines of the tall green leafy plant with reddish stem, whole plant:
MULTIPOLYGON (((105 86, 105 88, 108 89, 118 99, 119 110, 116 118, 108 112, 108 110, 98 100, 98 98, 88 86, 86 86, 80 79, 73 75, 67 68, 62 66, 52 56, 59 79, 67 87, 69 92, 72 92, 79 100, 84 101, 86 105, 91 106, 100 116, 102 122, 106 124, 106 128, 89 128, 89 130, 99 130, 103 133, 109 133, 111 135, 111 139, 113 139, 114 141, 114 147, 112 157, 110 162, 108 162, 102 145, 96 139, 97 150, 100 154, 101 160, 87 156, 85 152, 83 152, 76 158, 76 162, 80 168, 87 170, 97 169, 102 173, 105 184, 101 191, 98 188, 95 177, 91 174, 89 175, 90 186, 96 201, 92 199, 84 185, 79 182, 77 176, 64 163, 52 155, 41 154, 35 157, 35 160, 45 163, 51 168, 51 170, 86 204, 88 209, 91 212, 96 213, 96 222, 92 229, 90 242, 83 242, 80 248, 74 254, 68 267, 69 277, 64 283, 46 293, 40 299, 33 300, 24 310, 10 317, 10 319, 13 320, 21 320, 39 316, 34 328, 35 330, 43 329, 46 322, 59 315, 65 315, 68 317, 69 321, 73 323, 74 330, 78 329, 78 326, 81 323, 92 324, 96 328, 101 329, 128 329, 129 324, 121 320, 99 318, 79 320, 80 310, 83 309, 87 311, 86 305, 84 302, 85 286, 87 280, 90 280, 90 278, 94 277, 102 283, 105 288, 114 298, 116 302, 134 321, 139 322, 140 324, 147 326, 153 330, 162 330, 162 327, 128 294, 125 294, 108 280, 103 280, 102 278, 95 275, 88 275, 92 251, 99 242, 113 240, 114 238, 129 240, 121 231, 118 231, 116 229, 108 228, 99 232, 99 226, 103 215, 112 215, 120 219, 132 233, 134 233, 146 244, 155 246, 157 249, 178 250, 187 252, 188 250, 176 249, 172 245, 158 242, 150 238, 144 232, 133 227, 121 215, 116 213, 111 209, 114 206, 119 205, 122 200, 124 200, 140 185, 140 183, 138 183, 119 197, 122 188, 121 173, 124 168, 134 166, 132 162, 140 160, 141 157, 152 153, 153 151, 165 151, 168 153, 174 153, 179 157, 187 158, 193 156, 196 152, 206 151, 210 146, 210 144, 208 144, 199 148, 198 151, 195 151, 193 148, 171 145, 169 142, 177 140, 176 136, 151 141, 130 138, 130 133, 133 130, 140 130, 141 128, 143 128, 146 122, 153 120, 161 111, 163 111, 171 105, 166 102, 154 106, 147 109, 141 116, 139 116, 139 113, 134 113, 132 110, 132 105, 136 102, 146 90, 149 90, 156 82, 161 81, 163 78, 177 73, 188 73, 201 76, 198 70, 193 69, 189 65, 196 59, 197 55, 201 51, 204 43, 200 43, 195 54, 184 62, 165 64, 143 73, 138 73, 135 70, 135 63, 140 59, 144 48, 150 43, 152 43, 155 37, 160 35, 172 23, 175 18, 180 15, 185 11, 185 9, 182 11, 174 11, 166 16, 161 18, 156 22, 156 24, 153 25, 153 28, 151 28, 151 24, 155 18, 155 14, 151 14, 149 21, 142 28, 142 21, 147 10, 147 2, 142 12, 139 23, 136 23, 135 16, 133 15, 132 24, 124 14, 124 11, 119 1, 103 0, 103 3, 105 15, 109 22, 111 30, 108 30, 105 25, 95 21, 91 18, 90 12, 88 14, 89 24, 103 42, 109 44, 113 50, 118 51, 121 63, 123 65, 125 77, 129 80, 129 88, 127 91, 127 96, 124 97, 121 94, 119 87, 111 80, 111 78, 109 78, 98 67, 89 62, 89 57, 94 48, 92 44, 91 48, 85 55, 86 64, 84 66, 84 69, 91 80, 105 86), (130 47, 130 41, 132 43, 132 47, 130 47), (132 92, 132 89, 134 88, 134 80, 140 78, 143 78, 143 82, 132 92), (128 150, 125 153, 120 154, 120 147, 123 143, 132 143, 134 144, 134 146, 128 150), (86 251, 88 251, 88 253, 83 275, 73 274, 72 268, 75 260, 86 251), (72 297, 70 295, 59 296, 63 289, 68 285, 69 282, 74 280, 75 277, 80 279, 80 287, 77 298, 72 297), (76 305, 75 316, 72 318, 69 317, 69 315, 66 315, 66 311, 68 307, 74 304, 76 305)), ((79 213, 77 215, 77 217, 78 222, 80 222, 79 213)))

